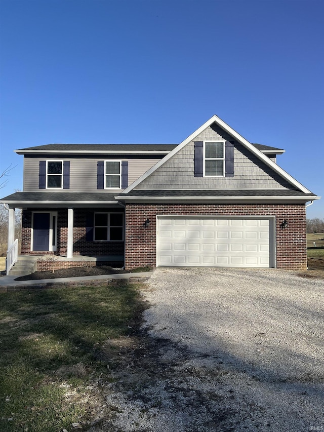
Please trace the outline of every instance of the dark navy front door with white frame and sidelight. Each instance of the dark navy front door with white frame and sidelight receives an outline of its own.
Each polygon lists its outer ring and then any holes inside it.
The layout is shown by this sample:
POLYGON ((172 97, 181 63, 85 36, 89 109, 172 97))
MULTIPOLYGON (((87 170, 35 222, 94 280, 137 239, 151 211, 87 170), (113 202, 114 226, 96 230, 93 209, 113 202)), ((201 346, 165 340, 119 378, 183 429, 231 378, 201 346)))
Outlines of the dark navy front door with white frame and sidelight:
POLYGON ((33 213, 33 251, 56 250, 56 213, 33 213))

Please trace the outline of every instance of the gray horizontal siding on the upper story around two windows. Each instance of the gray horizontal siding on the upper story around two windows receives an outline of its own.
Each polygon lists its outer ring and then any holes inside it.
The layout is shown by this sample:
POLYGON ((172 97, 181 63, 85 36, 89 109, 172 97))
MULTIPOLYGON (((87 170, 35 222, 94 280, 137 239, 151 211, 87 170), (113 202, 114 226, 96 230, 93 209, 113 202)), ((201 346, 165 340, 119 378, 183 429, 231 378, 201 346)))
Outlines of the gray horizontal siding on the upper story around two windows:
MULTIPOLYGON (((159 159, 127 159, 127 158, 34 158, 24 157, 24 191, 35 192, 38 188, 39 161, 50 159, 70 161, 70 192, 97 192, 97 162, 116 159, 128 161, 128 184, 131 185, 148 169, 155 165, 159 159)), ((44 189, 43 189, 44 190, 44 189)), ((53 189, 48 189, 52 190, 53 189)), ((110 189, 104 189, 110 190, 110 189)), ((65 190, 67 191, 67 190, 65 190)))

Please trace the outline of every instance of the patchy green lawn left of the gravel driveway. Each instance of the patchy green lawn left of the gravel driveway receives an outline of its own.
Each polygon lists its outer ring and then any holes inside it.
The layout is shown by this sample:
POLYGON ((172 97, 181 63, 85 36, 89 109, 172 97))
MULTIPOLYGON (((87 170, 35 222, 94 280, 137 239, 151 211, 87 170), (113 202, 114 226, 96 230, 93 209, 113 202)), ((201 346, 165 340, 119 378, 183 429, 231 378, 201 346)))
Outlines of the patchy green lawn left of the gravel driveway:
POLYGON ((128 336, 142 310, 136 285, 0 294, 0 430, 70 431, 91 421, 87 385, 109 380, 113 340, 128 336))

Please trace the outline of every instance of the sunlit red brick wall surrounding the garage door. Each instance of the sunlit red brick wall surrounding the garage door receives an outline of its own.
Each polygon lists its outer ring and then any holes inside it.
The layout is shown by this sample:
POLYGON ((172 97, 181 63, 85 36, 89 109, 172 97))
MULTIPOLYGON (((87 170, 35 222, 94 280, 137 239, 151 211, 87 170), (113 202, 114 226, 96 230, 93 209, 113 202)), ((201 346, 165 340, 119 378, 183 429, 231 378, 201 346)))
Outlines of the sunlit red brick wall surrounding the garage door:
POLYGON ((276 267, 305 270, 306 212, 303 204, 127 204, 125 268, 156 265, 156 215, 275 216, 276 267), (149 218, 148 228, 143 222, 149 218), (288 220, 288 228, 280 223, 288 220))

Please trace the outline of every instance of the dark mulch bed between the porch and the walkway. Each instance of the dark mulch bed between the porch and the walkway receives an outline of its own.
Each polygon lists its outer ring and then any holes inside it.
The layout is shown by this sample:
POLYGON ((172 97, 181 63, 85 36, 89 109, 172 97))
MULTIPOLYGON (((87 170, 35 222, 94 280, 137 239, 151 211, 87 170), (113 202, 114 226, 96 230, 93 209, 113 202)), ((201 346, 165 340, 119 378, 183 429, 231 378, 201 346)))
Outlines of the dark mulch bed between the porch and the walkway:
POLYGON ((58 278, 81 278, 84 276, 101 276, 102 274, 118 274, 129 273, 123 269, 116 269, 111 266, 99 267, 70 267, 60 268, 53 271, 34 271, 33 273, 26 274, 26 276, 19 276, 15 281, 33 281, 40 279, 58 279, 58 278))

